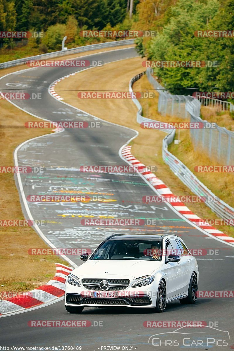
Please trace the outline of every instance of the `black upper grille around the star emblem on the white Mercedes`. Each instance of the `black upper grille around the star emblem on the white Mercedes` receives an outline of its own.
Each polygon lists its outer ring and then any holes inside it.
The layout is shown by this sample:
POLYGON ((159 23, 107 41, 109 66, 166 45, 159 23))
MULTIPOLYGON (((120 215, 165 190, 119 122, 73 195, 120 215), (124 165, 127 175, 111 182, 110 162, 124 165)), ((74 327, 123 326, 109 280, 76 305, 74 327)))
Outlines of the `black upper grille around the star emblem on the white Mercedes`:
POLYGON ((82 284, 87 290, 102 291, 99 284, 102 280, 107 280, 109 282, 108 291, 118 291, 127 289, 130 284, 129 279, 107 279, 107 278, 83 278, 82 284))

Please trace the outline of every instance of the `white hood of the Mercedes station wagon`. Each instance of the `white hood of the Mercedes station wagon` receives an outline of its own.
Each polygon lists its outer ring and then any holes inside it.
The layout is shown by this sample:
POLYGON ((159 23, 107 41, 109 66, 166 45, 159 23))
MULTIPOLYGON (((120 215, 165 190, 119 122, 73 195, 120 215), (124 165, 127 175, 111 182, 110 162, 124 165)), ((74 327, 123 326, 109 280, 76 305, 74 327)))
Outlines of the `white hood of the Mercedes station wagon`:
POLYGON ((151 274, 162 266, 161 261, 141 260, 88 260, 75 268, 72 273, 76 276, 91 276, 106 274, 116 276, 131 276, 139 278, 151 274))

